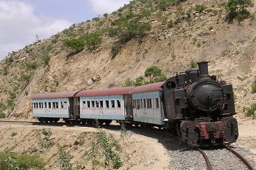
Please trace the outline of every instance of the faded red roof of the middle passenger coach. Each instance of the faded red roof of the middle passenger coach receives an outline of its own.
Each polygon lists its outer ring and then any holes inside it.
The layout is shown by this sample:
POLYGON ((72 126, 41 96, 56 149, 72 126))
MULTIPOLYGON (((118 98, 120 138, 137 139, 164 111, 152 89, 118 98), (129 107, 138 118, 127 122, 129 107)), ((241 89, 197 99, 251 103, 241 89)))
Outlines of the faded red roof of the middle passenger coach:
POLYGON ((116 87, 112 89, 84 90, 76 94, 76 97, 90 97, 102 95, 126 95, 134 87, 116 87))

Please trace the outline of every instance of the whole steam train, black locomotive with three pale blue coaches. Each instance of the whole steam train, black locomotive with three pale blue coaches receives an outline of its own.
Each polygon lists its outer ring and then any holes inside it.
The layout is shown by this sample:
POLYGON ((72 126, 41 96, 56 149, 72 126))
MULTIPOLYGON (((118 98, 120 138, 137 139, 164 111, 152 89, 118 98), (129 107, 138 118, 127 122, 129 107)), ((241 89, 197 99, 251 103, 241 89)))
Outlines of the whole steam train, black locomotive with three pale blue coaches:
POLYGON ((230 144, 238 138, 231 83, 209 75, 208 61, 165 82, 112 89, 34 94, 33 117, 41 123, 158 127, 193 147, 230 144))

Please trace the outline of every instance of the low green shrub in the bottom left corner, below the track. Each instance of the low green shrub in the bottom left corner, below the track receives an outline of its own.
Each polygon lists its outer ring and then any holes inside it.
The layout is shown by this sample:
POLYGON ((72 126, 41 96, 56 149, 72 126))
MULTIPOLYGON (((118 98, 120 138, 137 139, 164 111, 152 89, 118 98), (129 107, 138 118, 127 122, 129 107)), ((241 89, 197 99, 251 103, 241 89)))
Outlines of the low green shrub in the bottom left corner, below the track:
POLYGON ((44 169, 44 161, 40 155, 27 155, 10 152, 9 149, 5 149, 4 152, 0 152, 0 170, 14 170, 14 169, 44 169))

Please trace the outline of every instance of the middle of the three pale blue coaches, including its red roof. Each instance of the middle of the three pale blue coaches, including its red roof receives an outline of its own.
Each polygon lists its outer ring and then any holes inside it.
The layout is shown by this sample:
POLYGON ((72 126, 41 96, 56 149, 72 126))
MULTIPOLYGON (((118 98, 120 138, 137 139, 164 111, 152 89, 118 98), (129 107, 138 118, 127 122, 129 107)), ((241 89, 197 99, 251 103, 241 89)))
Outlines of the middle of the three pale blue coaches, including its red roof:
POLYGON ((105 124, 112 120, 132 120, 132 99, 129 95, 132 88, 84 90, 77 93, 76 97, 80 98, 80 119, 110 120, 101 121, 105 124))

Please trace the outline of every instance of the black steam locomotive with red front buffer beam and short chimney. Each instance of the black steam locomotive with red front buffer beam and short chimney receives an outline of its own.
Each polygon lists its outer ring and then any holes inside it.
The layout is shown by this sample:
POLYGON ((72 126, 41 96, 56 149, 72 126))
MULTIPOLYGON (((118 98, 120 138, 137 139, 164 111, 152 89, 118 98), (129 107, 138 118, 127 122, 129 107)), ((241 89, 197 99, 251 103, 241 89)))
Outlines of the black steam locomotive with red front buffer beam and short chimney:
POLYGON ((199 69, 176 73, 163 84, 166 124, 190 146, 233 143, 238 123, 232 84, 210 76, 207 61, 197 64, 199 69))

